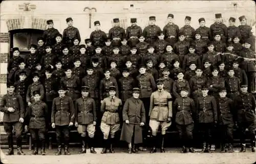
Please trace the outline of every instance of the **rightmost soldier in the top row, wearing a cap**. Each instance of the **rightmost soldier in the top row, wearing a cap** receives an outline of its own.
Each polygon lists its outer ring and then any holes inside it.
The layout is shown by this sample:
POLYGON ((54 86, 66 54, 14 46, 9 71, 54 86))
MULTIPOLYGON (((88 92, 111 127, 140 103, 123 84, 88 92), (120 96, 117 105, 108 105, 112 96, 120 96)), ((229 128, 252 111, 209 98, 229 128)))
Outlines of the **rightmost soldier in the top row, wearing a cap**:
POLYGON ((252 34, 253 30, 249 25, 247 25, 247 22, 246 22, 247 19, 244 15, 240 16, 239 20, 240 20, 240 24, 241 24, 238 26, 238 28, 240 29, 240 33, 241 33, 240 42, 242 44, 244 44, 245 40, 247 40, 247 39, 250 40, 251 41, 250 49, 254 51, 255 47, 254 47, 254 36, 252 34))

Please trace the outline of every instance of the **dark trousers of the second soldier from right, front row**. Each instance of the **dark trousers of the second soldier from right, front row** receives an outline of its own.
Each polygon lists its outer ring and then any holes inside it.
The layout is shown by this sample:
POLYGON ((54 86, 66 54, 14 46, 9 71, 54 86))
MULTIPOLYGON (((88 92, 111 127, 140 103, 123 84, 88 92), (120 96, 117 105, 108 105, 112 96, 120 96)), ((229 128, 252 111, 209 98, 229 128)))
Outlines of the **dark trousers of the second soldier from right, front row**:
MULTIPOLYGON (((233 144, 233 123, 219 125, 221 144, 233 144)), ((216 135, 218 137, 218 135, 216 135)))

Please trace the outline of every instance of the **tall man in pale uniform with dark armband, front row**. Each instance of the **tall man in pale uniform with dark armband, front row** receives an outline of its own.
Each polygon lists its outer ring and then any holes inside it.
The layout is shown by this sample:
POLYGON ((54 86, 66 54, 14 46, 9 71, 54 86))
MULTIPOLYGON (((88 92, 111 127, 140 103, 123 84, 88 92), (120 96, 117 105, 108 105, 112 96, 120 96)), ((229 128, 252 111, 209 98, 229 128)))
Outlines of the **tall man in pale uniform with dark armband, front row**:
POLYGON ((156 136, 159 126, 161 126, 161 148, 160 152, 164 153, 164 136, 168 127, 172 124, 173 117, 173 101, 170 93, 163 89, 162 79, 156 81, 158 90, 153 92, 150 98, 150 127, 152 129, 152 150, 150 153, 157 152, 156 149, 156 136))

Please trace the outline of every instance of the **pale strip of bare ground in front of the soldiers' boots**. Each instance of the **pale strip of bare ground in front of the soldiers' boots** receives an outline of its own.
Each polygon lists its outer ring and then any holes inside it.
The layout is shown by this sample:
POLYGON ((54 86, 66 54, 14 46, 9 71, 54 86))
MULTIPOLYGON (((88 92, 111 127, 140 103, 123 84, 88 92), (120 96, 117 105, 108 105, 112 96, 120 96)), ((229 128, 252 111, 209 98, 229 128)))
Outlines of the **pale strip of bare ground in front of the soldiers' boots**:
MULTIPOLYGON (((87 149, 87 154, 77 154, 79 148, 72 148, 72 155, 55 156, 54 150, 47 150, 46 156, 41 155, 12 155, 4 156, 4 163, 254 163, 256 161, 256 153, 250 152, 247 148, 246 153, 239 153, 238 149, 234 149, 234 153, 179 153, 178 148, 169 148, 166 153, 150 154, 149 152, 140 152, 140 154, 127 154, 126 149, 115 149, 115 154, 100 154, 101 148, 97 148, 97 154, 90 154, 87 149)), ((199 150, 198 150, 199 151, 199 150)), ((217 150, 219 151, 219 150, 217 150)), ((3 149, 6 153, 7 149, 3 149)), ((29 154, 28 149, 24 149, 26 154, 29 154)), ((1 152, 2 153, 2 152, 1 152)), ((16 152, 14 152, 16 154, 16 152)), ((2 157, 2 154, 1 154, 2 157)), ((3 157, 2 157, 3 159, 3 157)))

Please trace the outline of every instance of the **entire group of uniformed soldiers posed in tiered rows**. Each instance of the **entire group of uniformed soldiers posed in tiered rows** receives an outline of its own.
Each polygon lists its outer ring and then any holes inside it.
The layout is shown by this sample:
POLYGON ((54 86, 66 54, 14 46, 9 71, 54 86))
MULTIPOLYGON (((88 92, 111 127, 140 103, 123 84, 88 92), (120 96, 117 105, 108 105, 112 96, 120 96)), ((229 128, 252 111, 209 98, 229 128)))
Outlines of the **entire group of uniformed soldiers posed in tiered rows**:
MULTIPOLYGON (((194 125, 203 134, 201 152, 211 152, 216 144, 216 129, 221 132, 221 152, 233 152, 233 127, 238 126, 241 152, 246 151, 245 131, 249 130, 251 150, 255 152, 255 53, 251 27, 241 16, 241 25, 229 27, 216 22, 205 27, 200 18, 198 29, 189 24, 179 29, 174 15, 160 29, 156 17, 142 31, 137 19, 131 26, 114 27, 107 35, 95 21, 95 31, 81 41, 73 19, 63 35, 48 20, 48 29, 31 44, 25 59, 13 48, 8 62, 7 94, 1 101, 9 151, 13 152, 13 127, 17 154, 22 151, 21 135, 29 127, 32 154, 45 155, 47 130, 56 130, 57 152, 61 141, 65 155, 69 152, 70 128, 76 127, 82 150, 87 144, 94 150, 97 127, 103 134, 103 149, 114 153, 115 133, 121 128, 121 140, 128 143, 128 153, 151 143, 157 151, 157 132, 161 127, 160 152, 165 152, 164 138, 172 122, 177 127, 182 152, 193 149, 194 125), (248 91, 247 91, 248 90, 248 91), (146 142, 150 127, 151 142, 146 142), (87 136, 88 134, 88 136, 87 136)), ((148 146, 148 145, 147 145, 148 146)))

